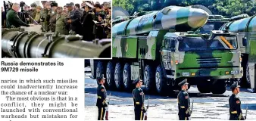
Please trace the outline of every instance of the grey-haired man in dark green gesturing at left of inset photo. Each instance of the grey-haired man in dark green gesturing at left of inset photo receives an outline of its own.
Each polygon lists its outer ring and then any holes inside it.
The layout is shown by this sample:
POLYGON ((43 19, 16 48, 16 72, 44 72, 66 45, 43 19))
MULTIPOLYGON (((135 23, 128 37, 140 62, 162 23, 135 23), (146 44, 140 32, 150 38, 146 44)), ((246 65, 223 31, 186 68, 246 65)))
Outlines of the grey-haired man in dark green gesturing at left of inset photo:
POLYGON ((20 5, 14 3, 12 5, 11 10, 9 10, 6 14, 6 27, 20 27, 20 26, 30 26, 27 23, 24 23, 17 15, 17 12, 20 10, 20 5))

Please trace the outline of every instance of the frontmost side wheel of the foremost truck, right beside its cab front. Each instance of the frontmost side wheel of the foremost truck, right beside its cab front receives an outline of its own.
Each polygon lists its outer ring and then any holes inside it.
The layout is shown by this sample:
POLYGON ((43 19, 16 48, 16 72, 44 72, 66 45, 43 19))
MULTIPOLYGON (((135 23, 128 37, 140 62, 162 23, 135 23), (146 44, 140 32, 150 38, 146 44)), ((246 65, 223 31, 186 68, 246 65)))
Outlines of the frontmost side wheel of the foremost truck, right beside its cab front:
POLYGON ((164 71, 161 66, 158 66, 155 71, 155 85, 158 94, 164 95, 167 87, 166 79, 164 77, 164 71))

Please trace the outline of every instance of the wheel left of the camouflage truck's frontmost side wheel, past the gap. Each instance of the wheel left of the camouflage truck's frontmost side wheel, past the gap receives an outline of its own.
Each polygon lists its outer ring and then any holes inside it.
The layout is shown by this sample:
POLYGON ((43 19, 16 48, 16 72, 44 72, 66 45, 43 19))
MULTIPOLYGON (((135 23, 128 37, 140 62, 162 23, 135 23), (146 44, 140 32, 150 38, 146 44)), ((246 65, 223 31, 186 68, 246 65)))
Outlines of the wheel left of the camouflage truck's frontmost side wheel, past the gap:
POLYGON ((154 85, 155 85, 155 78, 154 78, 154 74, 153 74, 153 70, 151 70, 150 66, 146 66, 144 73, 143 73, 143 82, 145 85, 145 92, 151 92, 154 89, 154 85))

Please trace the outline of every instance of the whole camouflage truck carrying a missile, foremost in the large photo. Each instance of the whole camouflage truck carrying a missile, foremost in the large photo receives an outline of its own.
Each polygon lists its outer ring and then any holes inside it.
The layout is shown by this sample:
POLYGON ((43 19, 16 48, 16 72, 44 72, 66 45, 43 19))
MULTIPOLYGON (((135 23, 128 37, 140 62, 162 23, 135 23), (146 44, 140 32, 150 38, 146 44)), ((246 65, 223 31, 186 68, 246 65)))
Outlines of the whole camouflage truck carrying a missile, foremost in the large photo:
POLYGON ((117 23, 113 59, 90 60, 92 78, 105 74, 108 88, 130 91, 139 77, 146 92, 159 94, 173 92, 182 79, 188 79, 201 93, 223 94, 226 79, 242 77, 238 36, 213 31, 205 39, 188 33, 207 20, 201 9, 171 6, 117 23))

